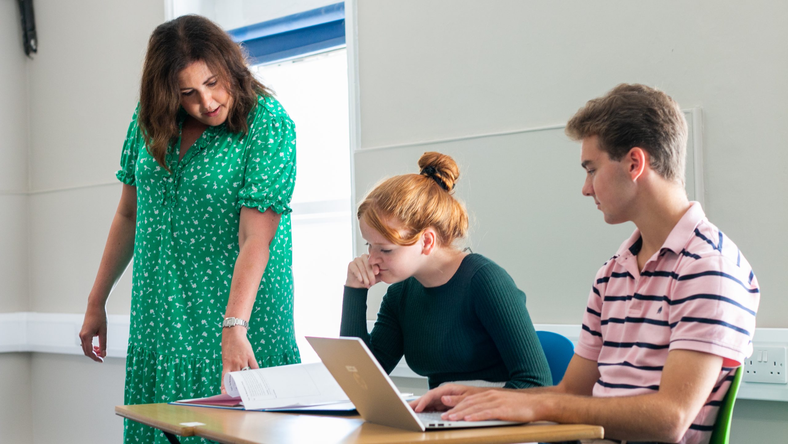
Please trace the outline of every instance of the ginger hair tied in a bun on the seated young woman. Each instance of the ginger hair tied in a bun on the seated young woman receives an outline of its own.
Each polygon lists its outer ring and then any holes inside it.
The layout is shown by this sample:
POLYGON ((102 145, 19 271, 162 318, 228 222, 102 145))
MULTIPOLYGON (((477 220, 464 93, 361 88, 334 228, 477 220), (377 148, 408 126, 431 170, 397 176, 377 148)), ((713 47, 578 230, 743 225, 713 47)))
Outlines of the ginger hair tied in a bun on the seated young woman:
POLYGON ((375 186, 359 204, 359 220, 364 218, 396 245, 415 244, 432 227, 437 244, 450 246, 468 231, 468 214, 453 196, 459 167, 448 155, 434 151, 424 153, 418 167, 421 173, 390 177, 375 186))

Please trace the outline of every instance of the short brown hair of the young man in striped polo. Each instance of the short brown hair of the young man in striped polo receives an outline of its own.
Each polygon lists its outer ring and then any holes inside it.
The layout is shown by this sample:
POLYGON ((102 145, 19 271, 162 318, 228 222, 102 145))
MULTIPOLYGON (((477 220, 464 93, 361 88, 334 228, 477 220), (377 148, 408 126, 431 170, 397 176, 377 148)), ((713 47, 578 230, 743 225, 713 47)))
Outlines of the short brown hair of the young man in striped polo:
POLYGON ((567 122, 566 132, 573 140, 598 136, 600 149, 615 161, 641 147, 656 173, 684 183, 687 122, 678 103, 663 91, 619 84, 585 103, 567 122))

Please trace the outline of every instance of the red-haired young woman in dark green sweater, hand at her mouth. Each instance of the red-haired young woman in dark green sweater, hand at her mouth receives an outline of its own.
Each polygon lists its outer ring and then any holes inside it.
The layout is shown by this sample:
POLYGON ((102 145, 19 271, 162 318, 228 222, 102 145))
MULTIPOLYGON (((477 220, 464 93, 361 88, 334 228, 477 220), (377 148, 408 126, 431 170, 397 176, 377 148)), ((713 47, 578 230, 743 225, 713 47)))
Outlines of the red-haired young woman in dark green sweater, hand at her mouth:
POLYGON ((359 205, 369 254, 348 264, 340 334, 366 341, 387 372, 405 356, 429 388, 551 385, 525 293, 492 260, 454 246, 468 229, 452 195, 457 164, 428 152, 418 167, 381 182, 359 205), (392 285, 368 334, 366 293, 377 282, 392 285))

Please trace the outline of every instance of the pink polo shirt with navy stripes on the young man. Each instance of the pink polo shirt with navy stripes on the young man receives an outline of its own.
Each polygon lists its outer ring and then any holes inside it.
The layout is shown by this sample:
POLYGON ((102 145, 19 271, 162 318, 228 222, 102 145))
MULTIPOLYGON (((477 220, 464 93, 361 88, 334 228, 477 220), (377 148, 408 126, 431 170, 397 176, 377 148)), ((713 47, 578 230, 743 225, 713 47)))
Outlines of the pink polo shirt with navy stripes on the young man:
POLYGON ((597 397, 659 390, 674 349, 722 356, 714 390, 681 441, 705 443, 735 368, 753 353, 758 282, 736 244, 708 222, 697 202, 643 271, 637 267, 641 245, 636 229, 597 272, 575 352, 597 361, 597 397))

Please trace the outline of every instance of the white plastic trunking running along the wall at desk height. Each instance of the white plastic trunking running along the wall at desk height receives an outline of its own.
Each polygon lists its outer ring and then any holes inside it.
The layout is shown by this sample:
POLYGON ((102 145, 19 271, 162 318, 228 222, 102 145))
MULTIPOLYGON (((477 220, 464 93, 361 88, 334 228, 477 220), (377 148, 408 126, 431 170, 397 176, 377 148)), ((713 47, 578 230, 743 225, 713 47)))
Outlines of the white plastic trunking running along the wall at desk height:
MULTIPOLYGON (((83 314, 15 312, 0 313, 0 353, 36 352, 81 355, 79 333, 83 314)), ((110 357, 125 357, 128 345, 128 315, 107 316, 107 350, 110 357)), ((367 321, 372 330, 374 321, 367 321)), ((563 334, 577 343, 581 327, 573 324, 534 324, 536 330, 563 334)), ((753 343, 788 346, 788 328, 756 328, 753 343)), ((87 358, 85 358, 87 359, 87 358)), ((397 364, 392 376, 423 378, 407 367, 405 360, 397 364)), ((788 384, 742 382, 738 397, 764 401, 788 401, 788 384)))

